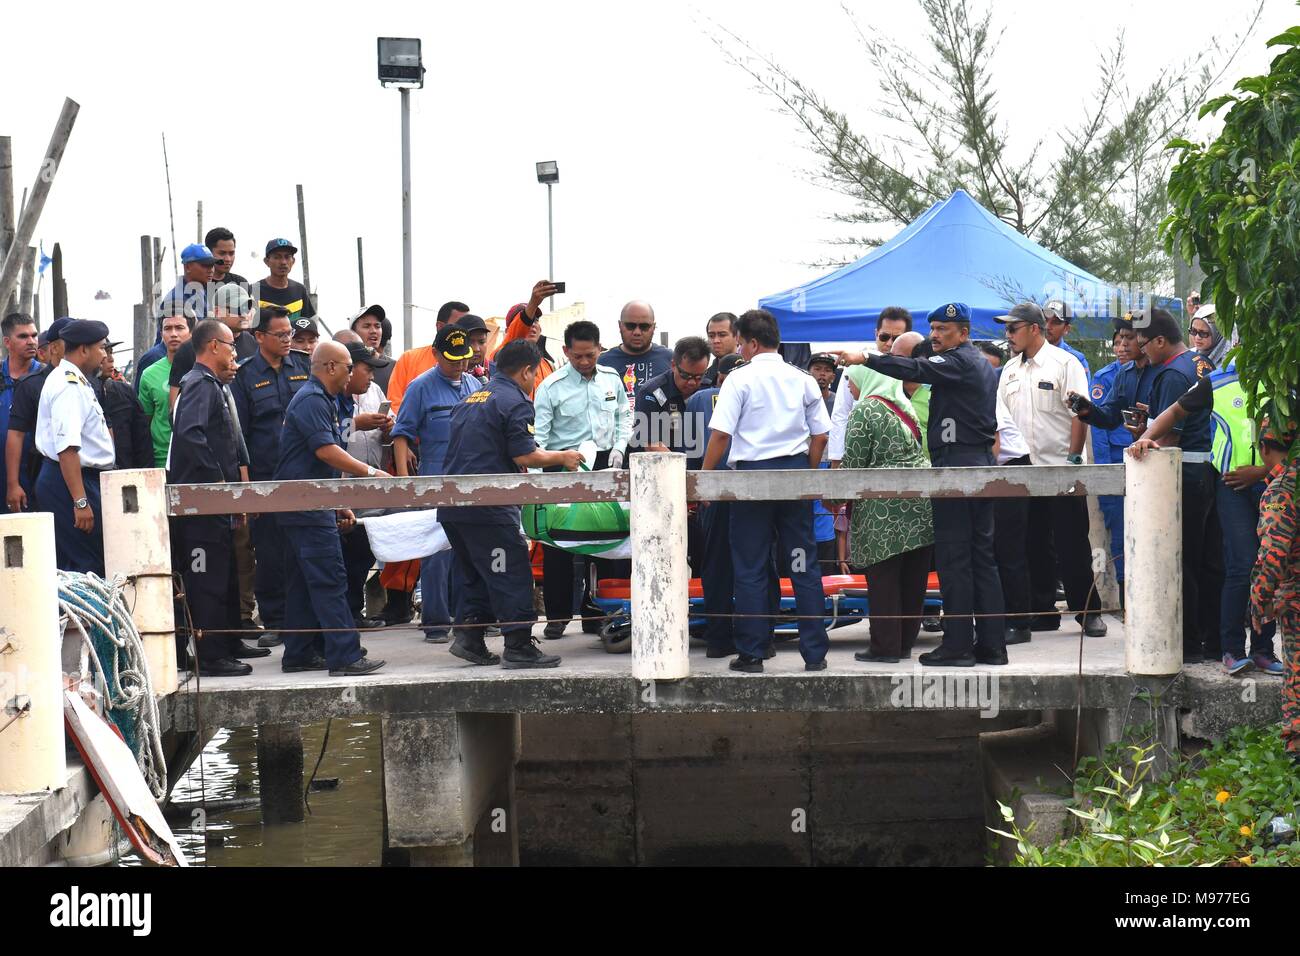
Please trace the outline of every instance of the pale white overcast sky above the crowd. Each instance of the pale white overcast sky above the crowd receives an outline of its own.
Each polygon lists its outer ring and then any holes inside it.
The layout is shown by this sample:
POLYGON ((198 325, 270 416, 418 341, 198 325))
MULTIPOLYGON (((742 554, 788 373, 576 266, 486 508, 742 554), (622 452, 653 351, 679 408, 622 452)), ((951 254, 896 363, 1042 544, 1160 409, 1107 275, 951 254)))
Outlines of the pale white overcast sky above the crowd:
MULTIPOLYGON (((849 4, 863 29, 928 53, 919 5, 849 4)), ((514 3, 364 5, 60 3, 4 13, 0 134, 13 138, 16 202, 34 181, 64 96, 81 104, 36 235, 61 243, 73 315, 130 341, 140 298, 139 237, 160 235, 172 269, 161 134, 176 245, 225 225, 235 271, 265 274, 268 239, 298 239, 306 193, 311 284, 333 328, 368 302, 400 338, 399 94, 376 77, 377 36, 419 36, 428 70, 412 103, 415 339, 437 307, 499 316, 546 277, 546 189, 534 163, 559 163, 554 190, 556 306, 582 302, 616 342, 619 308, 655 307, 672 338, 718 311, 826 272, 841 196, 810 183, 793 120, 731 64, 722 25, 872 129, 876 78, 838 3, 514 3), (95 302, 96 290, 112 297, 95 302)), ((978 3, 975 9, 983 9, 978 3)), ((1135 88, 1165 62, 1244 27, 1249 0, 997 0, 1004 30, 989 64, 1013 142, 1072 122, 1098 55, 1127 33, 1135 88)), ((1266 72, 1265 40, 1300 22, 1268 0, 1222 90, 1266 72)), ((1212 122, 1204 129, 1213 131, 1212 122)), ((294 277, 302 280, 302 255, 294 277)), ((48 278, 48 273, 47 273, 48 278)), ((51 284, 43 315, 51 316, 51 284)), ((400 345, 400 343, 398 343, 400 345)))

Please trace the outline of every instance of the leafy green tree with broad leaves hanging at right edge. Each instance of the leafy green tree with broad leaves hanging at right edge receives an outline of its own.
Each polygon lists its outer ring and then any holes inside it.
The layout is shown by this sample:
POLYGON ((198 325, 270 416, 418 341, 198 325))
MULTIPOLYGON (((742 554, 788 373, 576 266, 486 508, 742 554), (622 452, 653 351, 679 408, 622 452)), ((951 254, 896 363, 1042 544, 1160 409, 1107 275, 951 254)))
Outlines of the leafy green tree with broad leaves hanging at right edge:
POLYGON ((1287 48, 1268 74, 1201 107, 1205 116, 1232 104, 1218 138, 1169 144, 1179 156, 1161 232, 1170 251, 1200 260, 1202 300, 1225 334, 1236 330, 1247 394, 1260 389, 1252 411, 1273 401, 1290 416, 1300 381, 1300 26, 1268 46, 1287 48))

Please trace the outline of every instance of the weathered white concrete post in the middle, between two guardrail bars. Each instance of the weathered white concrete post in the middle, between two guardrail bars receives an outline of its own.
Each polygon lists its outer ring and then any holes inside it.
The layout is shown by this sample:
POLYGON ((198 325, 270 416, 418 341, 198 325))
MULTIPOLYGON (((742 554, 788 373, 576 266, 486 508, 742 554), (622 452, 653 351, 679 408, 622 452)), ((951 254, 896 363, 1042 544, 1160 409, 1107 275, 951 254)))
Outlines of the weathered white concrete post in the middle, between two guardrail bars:
POLYGON ((686 457, 642 451, 628 460, 632 522, 632 676, 677 680, 688 652, 686 457))

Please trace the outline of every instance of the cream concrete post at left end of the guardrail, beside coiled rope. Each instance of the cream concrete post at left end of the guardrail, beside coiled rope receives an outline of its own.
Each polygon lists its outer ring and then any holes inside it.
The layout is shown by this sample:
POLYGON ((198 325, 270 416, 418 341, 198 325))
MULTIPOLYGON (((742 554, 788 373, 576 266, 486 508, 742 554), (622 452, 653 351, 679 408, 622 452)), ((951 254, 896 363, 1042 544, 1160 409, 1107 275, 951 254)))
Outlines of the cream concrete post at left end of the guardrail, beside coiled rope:
POLYGON ((153 693, 177 689, 176 613, 172 604, 172 535, 166 518, 166 472, 161 468, 105 471, 99 477, 104 509, 104 571, 127 579, 126 606, 144 641, 153 693))

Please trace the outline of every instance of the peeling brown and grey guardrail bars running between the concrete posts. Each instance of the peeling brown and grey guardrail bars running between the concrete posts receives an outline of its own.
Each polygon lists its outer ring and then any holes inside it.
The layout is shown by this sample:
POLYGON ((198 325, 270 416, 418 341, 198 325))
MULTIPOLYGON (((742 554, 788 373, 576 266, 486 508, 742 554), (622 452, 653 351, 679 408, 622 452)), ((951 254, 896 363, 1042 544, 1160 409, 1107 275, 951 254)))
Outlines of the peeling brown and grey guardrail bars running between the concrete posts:
MULTIPOLYGON (((822 468, 686 473, 688 501, 1023 498, 1123 494, 1123 464, 982 468, 822 468)), ((168 514, 627 501, 627 471, 454 477, 329 479, 168 485, 168 514)))

